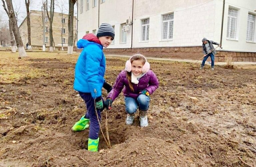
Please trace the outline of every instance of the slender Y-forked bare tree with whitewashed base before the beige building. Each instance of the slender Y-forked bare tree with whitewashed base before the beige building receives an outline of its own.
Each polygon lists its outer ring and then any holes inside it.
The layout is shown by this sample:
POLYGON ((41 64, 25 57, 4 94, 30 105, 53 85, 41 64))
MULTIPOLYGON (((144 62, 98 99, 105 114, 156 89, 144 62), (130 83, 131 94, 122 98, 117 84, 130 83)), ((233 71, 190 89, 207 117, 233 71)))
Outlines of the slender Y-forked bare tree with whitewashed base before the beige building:
POLYGON ((50 52, 53 52, 53 36, 52 36, 52 21, 53 21, 53 15, 54 15, 54 0, 51 0, 50 4, 50 15, 48 14, 48 0, 46 0, 46 13, 47 17, 50 22, 50 29, 49 29, 49 35, 50 35, 50 52))

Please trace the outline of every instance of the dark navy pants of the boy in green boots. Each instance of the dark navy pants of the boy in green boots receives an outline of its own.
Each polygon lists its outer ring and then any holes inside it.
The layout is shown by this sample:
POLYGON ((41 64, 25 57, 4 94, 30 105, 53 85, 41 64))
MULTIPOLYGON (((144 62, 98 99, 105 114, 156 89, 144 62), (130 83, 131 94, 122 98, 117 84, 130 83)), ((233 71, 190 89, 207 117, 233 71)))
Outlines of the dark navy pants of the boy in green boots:
MULTIPOLYGON (((98 139, 99 137, 99 131, 100 131, 100 125, 97 119, 97 115, 95 113, 95 103, 94 99, 92 98, 91 93, 82 93, 79 92, 82 99, 84 99, 87 113, 85 114, 85 118, 90 119, 90 128, 89 128, 89 138, 90 139, 98 139)), ((100 116, 100 110, 97 110, 99 120, 101 120, 100 116)))

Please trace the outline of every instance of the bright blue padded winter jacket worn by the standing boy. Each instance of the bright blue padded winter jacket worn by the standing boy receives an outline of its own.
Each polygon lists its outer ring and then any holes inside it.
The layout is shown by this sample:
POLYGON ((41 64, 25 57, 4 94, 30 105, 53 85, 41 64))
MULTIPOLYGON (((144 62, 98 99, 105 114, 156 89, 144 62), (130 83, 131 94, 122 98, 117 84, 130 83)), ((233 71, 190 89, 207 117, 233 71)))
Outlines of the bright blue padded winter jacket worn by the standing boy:
POLYGON ((74 89, 83 93, 91 93, 93 98, 100 97, 106 70, 103 46, 80 39, 77 47, 84 49, 76 63, 74 89))

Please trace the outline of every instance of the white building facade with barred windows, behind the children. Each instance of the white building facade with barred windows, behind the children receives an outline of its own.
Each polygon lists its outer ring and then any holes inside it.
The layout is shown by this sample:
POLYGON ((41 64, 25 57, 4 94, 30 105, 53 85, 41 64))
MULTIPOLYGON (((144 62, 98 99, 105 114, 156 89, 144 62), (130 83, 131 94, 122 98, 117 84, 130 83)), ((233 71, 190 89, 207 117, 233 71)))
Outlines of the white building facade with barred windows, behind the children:
POLYGON ((106 22, 115 29, 115 39, 108 47, 112 49, 192 50, 199 49, 206 37, 221 42, 222 51, 254 56, 255 16, 255 0, 78 0, 78 39, 96 33, 106 22))

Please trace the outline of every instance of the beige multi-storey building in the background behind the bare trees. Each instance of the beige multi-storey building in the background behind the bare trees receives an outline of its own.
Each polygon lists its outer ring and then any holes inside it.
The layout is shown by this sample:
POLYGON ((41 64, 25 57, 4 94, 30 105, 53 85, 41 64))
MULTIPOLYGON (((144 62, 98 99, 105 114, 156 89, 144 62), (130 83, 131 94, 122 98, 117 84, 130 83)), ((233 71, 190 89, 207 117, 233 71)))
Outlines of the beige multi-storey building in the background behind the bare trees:
MULTIPOLYGON (((49 11, 48 11, 49 12, 49 11)), ((47 14, 45 21, 45 44, 46 48, 50 46, 50 22, 47 14)), ((42 48, 43 46, 43 23, 42 23, 42 11, 31 10, 30 11, 30 27, 31 27, 31 46, 32 48, 42 48)), ((54 12, 53 16, 53 41, 56 50, 60 50, 63 44, 64 50, 68 47, 68 14, 62 14, 54 12), (61 38, 62 35, 62 38, 61 38)), ((74 16, 74 47, 76 47, 76 16, 74 16)), ((22 42, 24 46, 28 42, 28 30, 27 30, 27 18, 23 20, 19 26, 22 42)))

